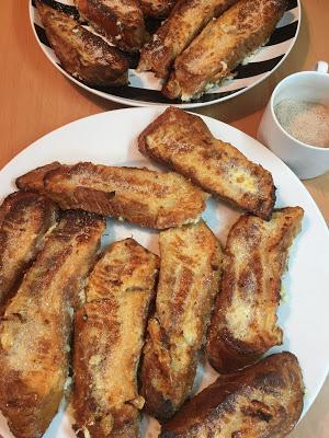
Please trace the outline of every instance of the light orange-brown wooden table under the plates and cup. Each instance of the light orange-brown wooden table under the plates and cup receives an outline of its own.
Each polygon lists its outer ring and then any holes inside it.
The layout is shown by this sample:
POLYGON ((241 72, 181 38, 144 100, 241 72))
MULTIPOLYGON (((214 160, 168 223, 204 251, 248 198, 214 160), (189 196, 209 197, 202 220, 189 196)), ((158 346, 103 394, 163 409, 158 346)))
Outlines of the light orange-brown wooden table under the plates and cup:
MULTIPOLYGON (((95 97, 65 79, 45 58, 30 27, 27 0, 2 0, 0 33, 0 168, 37 138, 78 118, 123 107, 95 97)), ((281 68, 262 84, 205 114, 256 136, 275 83, 298 70, 329 60, 328 0, 304 0, 298 41, 281 68)), ((329 224, 329 172, 305 182, 329 224)), ((328 348, 328 346, 319 346, 328 348)), ((294 438, 329 437, 329 380, 300 422, 294 438)))

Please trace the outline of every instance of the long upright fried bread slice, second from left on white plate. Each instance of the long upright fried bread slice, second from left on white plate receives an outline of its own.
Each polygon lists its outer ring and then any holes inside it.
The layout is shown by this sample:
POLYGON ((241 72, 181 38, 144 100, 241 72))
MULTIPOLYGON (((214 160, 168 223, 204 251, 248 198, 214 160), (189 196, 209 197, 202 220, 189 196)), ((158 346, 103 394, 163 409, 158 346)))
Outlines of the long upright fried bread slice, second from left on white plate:
POLYGON ((0 408, 16 437, 41 437, 68 377, 71 306, 105 229, 84 211, 63 215, 0 322, 0 408))

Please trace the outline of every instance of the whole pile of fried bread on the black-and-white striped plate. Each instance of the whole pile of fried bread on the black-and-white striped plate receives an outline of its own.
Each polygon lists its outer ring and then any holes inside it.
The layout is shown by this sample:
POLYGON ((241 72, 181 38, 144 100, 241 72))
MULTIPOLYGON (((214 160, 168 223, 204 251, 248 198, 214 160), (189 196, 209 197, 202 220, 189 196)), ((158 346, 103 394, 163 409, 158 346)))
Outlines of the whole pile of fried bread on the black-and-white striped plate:
POLYGON ((63 67, 94 87, 128 80, 132 53, 137 70, 152 71, 169 99, 190 101, 220 83, 266 43, 286 0, 75 0, 80 23, 46 0, 36 5, 63 67), (166 19, 152 35, 151 19, 166 19), (88 23, 89 27, 81 23, 88 23), (101 36, 102 37, 101 37, 101 36), (135 60, 136 61, 136 60, 135 60))

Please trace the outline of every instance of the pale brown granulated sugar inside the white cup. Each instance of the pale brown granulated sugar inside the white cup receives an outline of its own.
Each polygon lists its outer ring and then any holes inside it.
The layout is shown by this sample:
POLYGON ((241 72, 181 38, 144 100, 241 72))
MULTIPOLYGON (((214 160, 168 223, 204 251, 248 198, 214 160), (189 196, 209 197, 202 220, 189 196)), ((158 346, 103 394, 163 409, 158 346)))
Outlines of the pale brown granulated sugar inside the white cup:
POLYGON ((329 148, 329 106, 285 99, 274 106, 280 125, 304 143, 329 148))

